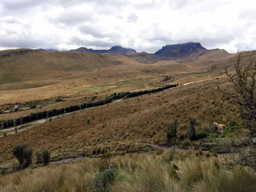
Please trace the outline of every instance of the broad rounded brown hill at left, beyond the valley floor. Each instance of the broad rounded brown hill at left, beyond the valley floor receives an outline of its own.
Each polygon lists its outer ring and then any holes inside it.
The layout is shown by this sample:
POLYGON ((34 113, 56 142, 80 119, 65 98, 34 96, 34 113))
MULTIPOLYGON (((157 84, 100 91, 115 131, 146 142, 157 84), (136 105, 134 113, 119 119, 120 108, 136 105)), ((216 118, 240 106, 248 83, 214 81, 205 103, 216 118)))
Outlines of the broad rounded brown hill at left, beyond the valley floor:
POLYGON ((122 61, 88 52, 6 50, 0 51, 0 84, 63 79, 120 64, 122 61))

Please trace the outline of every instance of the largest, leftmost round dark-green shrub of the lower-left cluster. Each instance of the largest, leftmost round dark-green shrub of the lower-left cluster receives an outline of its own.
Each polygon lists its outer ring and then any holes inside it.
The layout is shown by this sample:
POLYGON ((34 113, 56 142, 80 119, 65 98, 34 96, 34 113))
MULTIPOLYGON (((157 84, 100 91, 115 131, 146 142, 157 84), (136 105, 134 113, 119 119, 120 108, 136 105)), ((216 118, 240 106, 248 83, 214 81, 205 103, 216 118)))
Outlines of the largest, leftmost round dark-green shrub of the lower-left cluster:
POLYGON ((26 166, 32 163, 33 149, 29 147, 28 143, 20 143, 13 147, 13 156, 19 161, 20 164, 26 163, 26 166))

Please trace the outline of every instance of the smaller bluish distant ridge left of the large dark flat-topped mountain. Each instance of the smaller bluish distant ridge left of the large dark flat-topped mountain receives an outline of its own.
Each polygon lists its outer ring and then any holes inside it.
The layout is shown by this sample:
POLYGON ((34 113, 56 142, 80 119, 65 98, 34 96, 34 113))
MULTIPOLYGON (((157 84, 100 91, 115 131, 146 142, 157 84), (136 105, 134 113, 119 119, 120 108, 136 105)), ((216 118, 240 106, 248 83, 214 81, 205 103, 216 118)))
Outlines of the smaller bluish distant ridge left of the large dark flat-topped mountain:
POLYGON ((79 47, 78 49, 71 49, 70 51, 83 51, 83 52, 95 52, 95 53, 113 53, 113 54, 124 54, 126 52, 132 51, 136 52, 134 49, 131 48, 124 48, 120 45, 116 45, 111 47, 109 50, 93 50, 93 49, 87 49, 86 47, 79 47))

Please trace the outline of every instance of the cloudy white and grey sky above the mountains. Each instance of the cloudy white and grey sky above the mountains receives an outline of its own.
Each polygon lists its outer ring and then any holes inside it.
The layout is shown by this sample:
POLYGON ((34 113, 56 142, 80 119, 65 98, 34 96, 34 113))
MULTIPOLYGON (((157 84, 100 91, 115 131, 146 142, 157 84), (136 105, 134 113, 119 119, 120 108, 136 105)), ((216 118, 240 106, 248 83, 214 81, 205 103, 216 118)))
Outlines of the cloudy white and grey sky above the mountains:
POLYGON ((156 52, 200 42, 256 50, 255 0, 1 0, 0 50, 110 49, 156 52))

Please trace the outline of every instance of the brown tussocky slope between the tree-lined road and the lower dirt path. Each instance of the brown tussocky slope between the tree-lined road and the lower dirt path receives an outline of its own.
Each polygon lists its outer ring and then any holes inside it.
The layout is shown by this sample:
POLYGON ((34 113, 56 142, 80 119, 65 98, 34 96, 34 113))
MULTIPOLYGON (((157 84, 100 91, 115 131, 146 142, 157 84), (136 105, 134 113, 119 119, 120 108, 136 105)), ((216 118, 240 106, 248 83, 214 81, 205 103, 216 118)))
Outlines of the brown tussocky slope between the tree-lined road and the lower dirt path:
POLYGON ((166 125, 175 116, 179 116, 181 135, 188 127, 190 116, 198 119, 197 129, 210 129, 214 121, 239 124, 239 114, 230 99, 216 90, 216 83, 224 82, 219 79, 179 86, 87 109, 0 138, 0 162, 13 161, 12 147, 25 141, 35 152, 50 148, 54 156, 83 151, 90 154, 95 148, 121 150, 134 142, 162 143, 166 140, 166 125))

